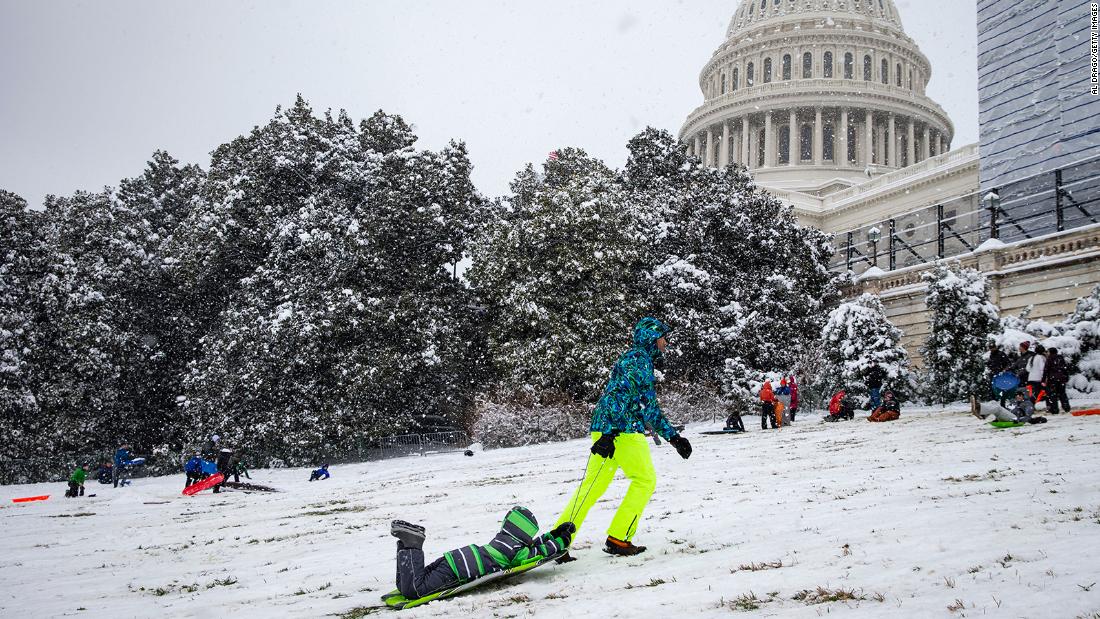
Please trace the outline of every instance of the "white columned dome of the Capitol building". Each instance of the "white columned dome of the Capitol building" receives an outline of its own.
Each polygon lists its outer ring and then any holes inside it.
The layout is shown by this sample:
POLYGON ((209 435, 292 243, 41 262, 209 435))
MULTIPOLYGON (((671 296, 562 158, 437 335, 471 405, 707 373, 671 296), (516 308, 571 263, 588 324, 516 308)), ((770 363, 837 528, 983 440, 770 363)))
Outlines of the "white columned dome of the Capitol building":
POLYGON ((680 139, 707 165, 826 196, 950 150, 931 76, 892 0, 744 0, 680 139))

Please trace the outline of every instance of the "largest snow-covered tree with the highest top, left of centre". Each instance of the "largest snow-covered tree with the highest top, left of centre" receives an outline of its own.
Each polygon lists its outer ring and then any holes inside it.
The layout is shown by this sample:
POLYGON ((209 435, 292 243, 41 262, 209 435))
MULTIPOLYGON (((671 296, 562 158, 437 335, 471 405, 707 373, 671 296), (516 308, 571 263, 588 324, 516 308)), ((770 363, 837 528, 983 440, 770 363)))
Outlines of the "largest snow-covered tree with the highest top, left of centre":
POLYGON ((220 306, 185 383, 193 438, 305 460, 463 412, 476 334, 453 265, 481 199, 461 144, 415 142, 299 98, 216 152, 179 243, 180 279, 220 306))

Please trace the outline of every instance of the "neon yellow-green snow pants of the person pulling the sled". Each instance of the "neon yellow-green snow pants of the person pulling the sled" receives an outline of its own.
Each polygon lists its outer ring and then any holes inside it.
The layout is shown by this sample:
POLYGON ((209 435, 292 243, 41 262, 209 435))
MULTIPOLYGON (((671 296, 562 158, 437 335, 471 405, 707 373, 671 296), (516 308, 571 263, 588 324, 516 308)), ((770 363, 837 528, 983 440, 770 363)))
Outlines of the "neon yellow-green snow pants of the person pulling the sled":
MULTIPOLYGON (((597 441, 600 436, 600 432, 593 432, 592 441, 597 441)), ((646 509, 649 497, 653 495, 653 488, 657 487, 657 472, 653 471, 649 441, 645 434, 619 434, 615 438, 615 455, 606 460, 595 454, 588 455, 584 480, 558 519, 558 524, 572 522, 580 531, 588 509, 607 491, 607 486, 619 468, 630 480, 630 487, 627 488, 626 496, 623 497, 623 502, 612 519, 607 534, 618 540, 630 541, 638 530, 641 512, 646 509)), ((573 539, 576 539, 576 533, 573 533, 573 539)))

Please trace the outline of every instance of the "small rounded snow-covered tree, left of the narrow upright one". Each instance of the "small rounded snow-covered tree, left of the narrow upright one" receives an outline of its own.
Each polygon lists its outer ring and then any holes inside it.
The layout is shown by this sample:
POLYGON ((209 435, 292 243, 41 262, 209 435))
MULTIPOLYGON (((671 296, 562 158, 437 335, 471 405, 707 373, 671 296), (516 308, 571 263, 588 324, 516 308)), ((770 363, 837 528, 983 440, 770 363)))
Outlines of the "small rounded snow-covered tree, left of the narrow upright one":
POLYGON ((818 389, 825 394, 842 388, 866 393, 867 378, 881 372, 884 388, 901 398, 911 394, 914 380, 901 339, 901 330, 890 322, 875 295, 840 303, 822 329, 824 363, 818 389))

